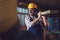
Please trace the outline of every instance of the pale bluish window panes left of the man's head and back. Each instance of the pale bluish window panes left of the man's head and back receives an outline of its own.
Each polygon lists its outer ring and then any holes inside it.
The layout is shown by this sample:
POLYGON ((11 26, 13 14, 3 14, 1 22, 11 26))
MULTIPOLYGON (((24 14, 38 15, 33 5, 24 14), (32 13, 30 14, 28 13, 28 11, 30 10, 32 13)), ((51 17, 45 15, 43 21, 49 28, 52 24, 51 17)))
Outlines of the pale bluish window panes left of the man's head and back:
POLYGON ((24 26, 25 25, 25 21, 24 21, 25 17, 28 16, 28 9, 17 7, 17 12, 18 12, 18 18, 20 21, 20 25, 24 26))

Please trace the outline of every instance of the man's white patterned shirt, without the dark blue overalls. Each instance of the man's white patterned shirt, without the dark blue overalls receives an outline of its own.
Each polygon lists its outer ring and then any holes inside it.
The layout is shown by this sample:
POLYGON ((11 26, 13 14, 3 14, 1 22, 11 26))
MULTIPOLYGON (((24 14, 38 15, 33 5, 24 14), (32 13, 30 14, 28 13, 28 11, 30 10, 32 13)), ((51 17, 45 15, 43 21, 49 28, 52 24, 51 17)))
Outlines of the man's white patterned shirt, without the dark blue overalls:
MULTIPOLYGON (((36 18, 34 16, 27 16, 25 18, 25 24, 27 26, 27 30, 29 30, 29 28, 31 28, 33 26, 33 20, 35 20, 36 18)), ((39 21, 36 23, 38 24, 39 22, 42 22, 43 20, 42 19, 39 19, 39 21)))

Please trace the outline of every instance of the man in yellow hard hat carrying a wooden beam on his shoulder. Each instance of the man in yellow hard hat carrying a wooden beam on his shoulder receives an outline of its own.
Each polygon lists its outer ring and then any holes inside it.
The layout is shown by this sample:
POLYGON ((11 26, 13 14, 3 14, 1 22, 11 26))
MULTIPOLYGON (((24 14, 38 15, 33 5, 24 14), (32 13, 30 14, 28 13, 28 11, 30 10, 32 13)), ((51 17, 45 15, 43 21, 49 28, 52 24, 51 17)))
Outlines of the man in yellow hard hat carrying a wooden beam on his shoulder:
POLYGON ((27 26, 27 31, 37 34, 38 37, 43 40, 43 28, 48 26, 48 21, 44 16, 41 16, 41 11, 39 12, 37 5, 35 3, 30 3, 28 5, 29 16, 25 18, 25 24, 27 26))

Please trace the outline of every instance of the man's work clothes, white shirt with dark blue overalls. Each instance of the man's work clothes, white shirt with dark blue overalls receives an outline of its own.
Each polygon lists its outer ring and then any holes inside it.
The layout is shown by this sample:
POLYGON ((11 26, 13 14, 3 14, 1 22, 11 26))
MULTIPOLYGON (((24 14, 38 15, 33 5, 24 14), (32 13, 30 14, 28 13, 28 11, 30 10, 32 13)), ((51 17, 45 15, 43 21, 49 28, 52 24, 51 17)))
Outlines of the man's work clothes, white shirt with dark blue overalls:
POLYGON ((39 21, 37 21, 37 23, 35 25, 33 25, 33 20, 35 20, 36 18, 34 16, 28 16, 25 18, 25 24, 27 26, 27 31, 37 35, 38 37, 40 37, 41 40, 43 40, 43 27, 44 24, 42 23, 43 20, 42 18, 39 19, 39 21))

